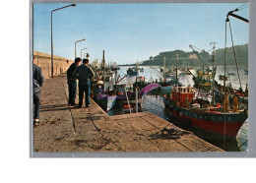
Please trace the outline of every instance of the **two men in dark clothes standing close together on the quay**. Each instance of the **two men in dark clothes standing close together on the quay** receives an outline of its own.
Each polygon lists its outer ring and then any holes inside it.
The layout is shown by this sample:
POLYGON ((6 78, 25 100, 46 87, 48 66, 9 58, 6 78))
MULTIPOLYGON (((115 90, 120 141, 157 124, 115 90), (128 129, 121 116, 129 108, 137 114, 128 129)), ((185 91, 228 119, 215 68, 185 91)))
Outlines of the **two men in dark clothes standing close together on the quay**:
POLYGON ((89 59, 76 58, 75 63, 71 64, 67 70, 67 80, 69 88, 69 105, 75 106, 76 95, 77 95, 77 79, 79 80, 79 104, 81 108, 83 105, 83 98, 85 93, 85 104, 86 107, 91 107, 90 104, 90 93, 91 93, 91 80, 95 76, 95 72, 89 66, 89 59))

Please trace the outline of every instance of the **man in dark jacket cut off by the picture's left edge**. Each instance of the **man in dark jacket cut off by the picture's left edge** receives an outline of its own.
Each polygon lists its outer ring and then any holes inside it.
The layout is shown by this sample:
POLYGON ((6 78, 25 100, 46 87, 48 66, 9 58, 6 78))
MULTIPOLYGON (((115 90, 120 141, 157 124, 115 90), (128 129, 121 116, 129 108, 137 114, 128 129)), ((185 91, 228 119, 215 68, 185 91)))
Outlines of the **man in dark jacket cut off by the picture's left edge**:
MULTIPOLYGON (((34 63, 34 57, 33 57, 34 63)), ((39 123, 39 112, 40 112, 40 91, 44 82, 41 68, 32 63, 32 95, 33 95, 33 125, 38 126, 39 123)))

